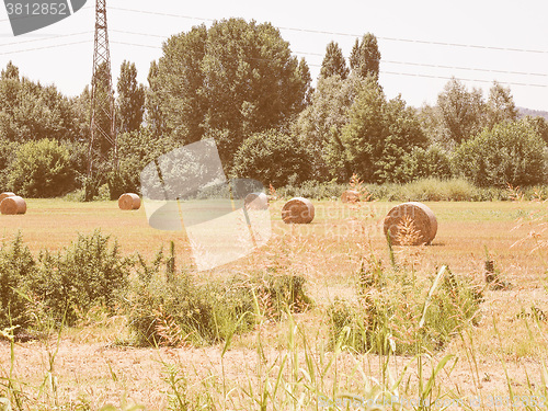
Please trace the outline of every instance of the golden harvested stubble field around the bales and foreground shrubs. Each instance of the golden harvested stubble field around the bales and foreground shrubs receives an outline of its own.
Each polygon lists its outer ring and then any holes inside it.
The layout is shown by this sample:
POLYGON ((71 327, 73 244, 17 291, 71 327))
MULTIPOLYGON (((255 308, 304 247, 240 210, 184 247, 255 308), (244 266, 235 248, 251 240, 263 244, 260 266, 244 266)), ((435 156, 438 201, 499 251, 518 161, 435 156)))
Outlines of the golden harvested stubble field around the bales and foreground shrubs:
MULTIPOLYGON (((126 346, 130 334, 124 310, 121 308, 118 316, 110 317, 98 308, 84 315, 77 327, 62 330, 58 349, 55 332, 43 341, 15 343, 13 375, 18 381, 27 384, 22 390, 30 396, 28 409, 49 409, 56 403, 67 409, 83 406, 100 409, 106 403, 121 409, 127 403, 149 410, 167 409, 168 392, 174 392, 169 384, 173 373, 184 376, 184 381, 178 383, 179 392, 184 392, 191 403, 207 402, 203 396, 208 393, 216 407, 221 403, 221 409, 253 409, 258 393, 250 397, 246 387, 251 384, 256 390, 270 389, 272 395, 272 386, 267 388, 263 383, 270 378, 274 384, 281 376, 286 387, 301 392, 310 404, 317 401, 318 392, 307 390, 298 380, 310 375, 312 368, 319 373, 317 378, 320 378, 320 369, 328 369, 321 380, 310 383, 320 392, 330 392, 338 380, 341 392, 365 395, 363 376, 383 381, 387 378, 383 374, 385 365, 392 377, 409 376, 409 380, 404 378, 409 381, 406 395, 415 398, 418 372, 422 370, 427 379, 446 355, 452 359, 436 375, 435 398, 482 396, 487 401, 489 396, 507 396, 509 384, 514 395, 532 396, 529 389, 538 389, 534 392, 540 395, 544 392, 543 361, 548 361, 548 324, 543 318, 535 319, 534 312, 538 311, 532 311, 532 307, 548 312, 544 288, 548 261, 546 250, 532 253, 532 242, 512 246, 527 238, 536 227, 527 224, 518 227, 520 219, 527 220, 529 213, 541 205, 528 202, 425 204, 437 217, 437 235, 431 246, 395 247, 399 270, 427 279, 433 278, 442 264, 447 264, 454 274, 483 284, 487 249, 501 277, 511 285, 506 289, 486 288, 479 322, 454 338, 442 351, 432 353, 432 361, 424 358, 419 364, 416 358, 406 355, 387 357, 343 350, 336 363, 324 368, 328 358, 335 355, 328 344, 326 310, 336 297, 355 298, 356 275, 367 255, 375 254, 385 270, 390 270, 383 221, 397 204, 356 206, 338 201, 318 202, 311 224, 286 225, 281 219, 284 202, 277 201, 270 206, 273 219, 270 242, 240 261, 202 273, 199 281, 229 278, 236 272, 273 266, 307 279, 309 294, 316 301, 312 309, 279 322, 261 322, 254 331, 235 335, 224 354, 222 343, 204 347, 126 346), (38 395, 38 387, 48 375, 48 353, 57 353, 52 374, 56 388, 55 391, 46 388, 47 395, 38 395), (264 353, 264 362, 258 359, 261 353, 264 353), (307 357, 313 361, 307 363, 307 357), (409 368, 404 370, 408 363, 409 368), (356 372, 356 366, 361 372, 356 372)), ((116 202, 30 199, 23 219, 0 216, 0 227, 4 242, 21 231, 35 254, 43 249, 60 250, 75 240, 77 232, 88 233, 95 228, 116 238, 124 254, 139 251, 148 260, 160 247, 167 249, 173 241, 176 267, 187 266, 192 272, 193 261, 184 232, 153 230, 148 227, 142 208, 121 214, 116 202)), ((9 369, 9 344, 2 342, 1 376, 5 377, 9 369)), ((400 386, 400 395, 403 392, 400 386)), ((275 398, 279 409, 294 409, 286 391, 279 391, 275 398)), ((488 402, 483 409, 491 409, 488 402)))

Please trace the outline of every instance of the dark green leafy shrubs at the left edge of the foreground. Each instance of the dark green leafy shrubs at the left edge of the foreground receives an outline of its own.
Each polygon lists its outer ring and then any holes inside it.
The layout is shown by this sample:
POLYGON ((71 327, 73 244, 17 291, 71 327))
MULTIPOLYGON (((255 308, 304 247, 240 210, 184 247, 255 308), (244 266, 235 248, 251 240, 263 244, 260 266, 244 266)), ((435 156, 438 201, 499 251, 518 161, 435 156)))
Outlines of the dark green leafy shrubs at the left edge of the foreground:
POLYGON ((130 260, 101 231, 83 236, 62 252, 35 259, 21 236, 0 249, 0 327, 30 327, 31 300, 57 323, 71 326, 79 312, 103 305, 111 312, 128 286, 130 260))

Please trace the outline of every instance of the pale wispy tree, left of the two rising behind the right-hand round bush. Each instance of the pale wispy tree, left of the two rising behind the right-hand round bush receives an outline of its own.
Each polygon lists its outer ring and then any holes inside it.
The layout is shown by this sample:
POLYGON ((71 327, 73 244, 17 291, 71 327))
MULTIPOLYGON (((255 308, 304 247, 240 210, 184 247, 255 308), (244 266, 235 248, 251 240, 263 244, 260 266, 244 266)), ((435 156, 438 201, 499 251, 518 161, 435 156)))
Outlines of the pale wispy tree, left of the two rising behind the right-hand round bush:
POLYGON ((468 91, 465 84, 455 78, 449 80, 438 94, 437 107, 444 142, 449 147, 469 139, 483 127, 486 104, 481 90, 468 91))

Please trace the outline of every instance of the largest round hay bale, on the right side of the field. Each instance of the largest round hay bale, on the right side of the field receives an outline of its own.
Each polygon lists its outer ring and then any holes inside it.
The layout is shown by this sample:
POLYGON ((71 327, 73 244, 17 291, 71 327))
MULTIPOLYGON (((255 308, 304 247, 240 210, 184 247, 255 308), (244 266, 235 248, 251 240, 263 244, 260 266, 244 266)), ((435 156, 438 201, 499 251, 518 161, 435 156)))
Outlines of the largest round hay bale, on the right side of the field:
POLYGON ((392 246, 430 244, 436 237, 437 219, 424 204, 410 202, 393 207, 385 218, 385 236, 392 246))

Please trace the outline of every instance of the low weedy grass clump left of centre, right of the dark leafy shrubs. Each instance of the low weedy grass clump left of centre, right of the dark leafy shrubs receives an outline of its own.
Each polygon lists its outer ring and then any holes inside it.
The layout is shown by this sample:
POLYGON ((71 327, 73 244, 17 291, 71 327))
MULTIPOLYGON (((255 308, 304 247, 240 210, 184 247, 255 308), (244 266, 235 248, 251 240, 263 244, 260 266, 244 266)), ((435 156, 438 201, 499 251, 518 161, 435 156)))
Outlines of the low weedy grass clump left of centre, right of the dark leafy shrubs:
POLYGON ((138 345, 227 341, 251 331, 260 313, 278 320, 284 312, 299 312, 311 304, 300 276, 256 274, 201 284, 185 270, 175 272, 173 259, 172 250, 167 259, 160 252, 151 265, 141 260, 129 297, 129 327, 138 345))

